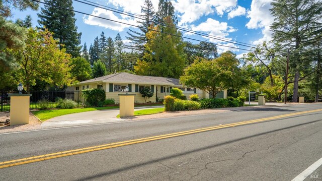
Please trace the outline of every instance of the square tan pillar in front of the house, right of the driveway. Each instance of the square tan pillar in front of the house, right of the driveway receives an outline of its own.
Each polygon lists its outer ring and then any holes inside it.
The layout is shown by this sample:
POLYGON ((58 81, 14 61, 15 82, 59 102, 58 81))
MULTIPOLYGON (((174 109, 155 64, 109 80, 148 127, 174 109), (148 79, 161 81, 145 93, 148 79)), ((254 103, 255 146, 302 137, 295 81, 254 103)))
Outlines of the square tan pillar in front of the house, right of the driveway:
POLYGON ((119 96, 120 96, 120 117, 133 116, 135 94, 119 94, 119 96))

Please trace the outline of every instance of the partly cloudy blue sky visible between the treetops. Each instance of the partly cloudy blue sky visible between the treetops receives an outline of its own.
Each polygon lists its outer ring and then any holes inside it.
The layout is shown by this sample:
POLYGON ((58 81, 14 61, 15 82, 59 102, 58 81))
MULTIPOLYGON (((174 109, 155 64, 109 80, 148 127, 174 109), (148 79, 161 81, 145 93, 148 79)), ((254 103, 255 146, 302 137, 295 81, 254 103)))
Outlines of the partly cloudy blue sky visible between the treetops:
MULTIPOLYGON (((89 1, 108 7, 117 8, 133 14, 139 14, 141 9, 140 6, 144 3, 144 0, 89 1)), ((273 21, 273 18, 269 13, 271 1, 272 0, 175 0, 172 1, 172 3, 175 7, 180 27, 200 31, 221 38, 227 38, 232 41, 256 45, 264 40, 271 40, 271 31, 269 30, 269 26, 273 21)), ((156 10, 158 0, 151 0, 151 2, 156 10)), ((75 1, 73 1, 73 7, 76 11, 126 22, 129 24, 136 24, 137 20, 75 1)), ((23 12, 13 12, 13 20, 17 18, 24 19, 27 15, 31 15, 33 19, 33 26, 38 25, 38 16, 36 11, 28 9, 23 12)), ((38 12, 40 12, 40 9, 38 12)), ((110 36, 113 39, 117 33, 120 33, 124 43, 128 43, 126 40, 126 32, 128 29, 136 30, 134 27, 89 17, 79 13, 75 13, 75 18, 78 32, 82 32, 82 44, 86 42, 88 48, 90 44, 93 43, 94 38, 96 36, 100 36, 102 31, 104 31, 105 36, 110 36)), ((249 47, 227 43, 216 39, 209 39, 199 35, 183 33, 183 36, 203 41, 207 40, 227 46, 249 49, 249 47)), ((219 52, 228 49, 236 53, 238 57, 247 52, 244 50, 218 46, 219 52)))

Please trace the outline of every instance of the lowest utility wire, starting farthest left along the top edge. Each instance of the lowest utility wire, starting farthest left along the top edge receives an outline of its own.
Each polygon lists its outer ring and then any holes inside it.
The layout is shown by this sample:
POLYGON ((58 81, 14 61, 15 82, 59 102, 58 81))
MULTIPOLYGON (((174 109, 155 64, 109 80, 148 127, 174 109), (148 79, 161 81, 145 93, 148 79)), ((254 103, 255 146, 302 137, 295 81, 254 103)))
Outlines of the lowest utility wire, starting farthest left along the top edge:
MULTIPOLYGON (((103 18, 103 17, 100 17, 100 16, 95 16, 95 15, 91 15, 91 14, 84 13, 84 12, 80 12, 80 11, 76 11, 76 10, 70 10, 70 9, 67 9, 67 8, 60 7, 60 6, 51 5, 51 4, 48 4, 48 3, 45 3, 45 2, 40 2, 38 0, 31 0, 31 1, 37 2, 37 3, 41 3, 41 4, 44 4, 44 5, 48 5, 48 6, 52 6, 52 7, 55 7, 55 8, 59 8, 59 9, 62 9, 62 10, 72 11, 72 12, 75 12, 75 13, 80 13, 80 14, 92 16, 92 17, 95 17, 95 18, 100 18, 100 19, 104 19, 104 20, 108 20, 108 21, 113 21, 113 22, 116 22, 116 23, 121 23, 121 24, 125 24, 125 25, 129 25, 129 26, 133 26, 133 27, 140 28, 140 26, 137 26, 137 25, 132 25, 132 24, 129 24, 129 23, 124 23, 124 22, 120 22, 120 21, 116 21, 116 20, 112 20, 112 19, 108 19, 108 18, 103 18)), ((141 28, 143 28, 143 27, 141 27, 141 28)), ((176 37, 180 37, 180 38, 186 38, 186 39, 190 39, 190 40, 194 40, 194 41, 199 41, 199 42, 204 42, 204 43, 210 43, 210 44, 214 44, 214 45, 217 45, 217 46, 223 46, 223 47, 240 49, 240 50, 246 50, 246 51, 254 51, 254 50, 250 50, 250 49, 237 48, 237 47, 233 47, 233 46, 227 46, 227 45, 221 45, 221 44, 217 44, 217 43, 211 43, 211 42, 207 42, 207 41, 202 41, 202 40, 198 40, 198 39, 194 39, 194 38, 188 38, 188 37, 179 36, 179 35, 175 35, 175 34, 171 34, 171 33, 166 33, 166 32, 161 32, 161 31, 157 31, 157 30, 153 30, 153 29, 149 29, 149 28, 145 28, 145 27, 144 27, 144 29, 149 30, 149 31, 155 31, 155 32, 158 32, 158 33, 167 34, 167 35, 172 35, 172 36, 176 36, 176 37)))

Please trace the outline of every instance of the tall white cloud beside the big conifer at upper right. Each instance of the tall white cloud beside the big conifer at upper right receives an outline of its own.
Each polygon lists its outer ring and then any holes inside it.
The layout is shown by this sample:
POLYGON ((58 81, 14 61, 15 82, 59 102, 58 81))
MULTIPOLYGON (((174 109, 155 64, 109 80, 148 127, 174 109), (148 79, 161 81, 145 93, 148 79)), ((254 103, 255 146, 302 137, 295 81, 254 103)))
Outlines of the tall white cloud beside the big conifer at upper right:
POLYGON ((273 0, 253 0, 251 10, 247 12, 247 18, 250 21, 246 24, 249 29, 262 29, 263 37, 254 41, 253 44, 259 44, 263 41, 270 41, 272 39, 272 32, 270 26, 274 21, 269 9, 273 0))

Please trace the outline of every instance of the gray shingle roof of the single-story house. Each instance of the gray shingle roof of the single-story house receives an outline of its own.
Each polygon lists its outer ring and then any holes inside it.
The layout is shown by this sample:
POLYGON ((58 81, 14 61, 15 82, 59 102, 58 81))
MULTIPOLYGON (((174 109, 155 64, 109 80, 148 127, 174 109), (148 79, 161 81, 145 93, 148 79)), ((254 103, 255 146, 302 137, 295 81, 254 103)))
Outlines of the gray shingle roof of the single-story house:
POLYGON ((108 83, 135 83, 135 84, 155 84, 155 85, 180 85, 179 79, 153 77, 153 76, 138 76, 129 73, 110 74, 87 81, 82 81, 79 84, 108 82, 108 83))

